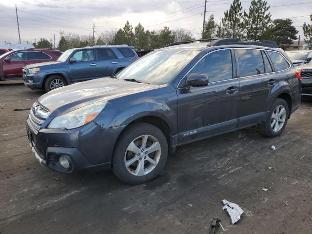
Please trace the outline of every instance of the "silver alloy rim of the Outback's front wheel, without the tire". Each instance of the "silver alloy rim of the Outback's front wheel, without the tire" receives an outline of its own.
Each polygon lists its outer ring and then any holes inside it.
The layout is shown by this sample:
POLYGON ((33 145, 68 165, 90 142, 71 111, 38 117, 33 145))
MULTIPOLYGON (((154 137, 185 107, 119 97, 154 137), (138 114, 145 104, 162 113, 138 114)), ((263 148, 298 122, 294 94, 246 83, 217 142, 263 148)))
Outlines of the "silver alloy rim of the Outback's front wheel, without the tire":
POLYGON ((134 139, 125 153, 125 166, 134 176, 145 176, 156 168, 161 155, 158 140, 150 135, 134 139))

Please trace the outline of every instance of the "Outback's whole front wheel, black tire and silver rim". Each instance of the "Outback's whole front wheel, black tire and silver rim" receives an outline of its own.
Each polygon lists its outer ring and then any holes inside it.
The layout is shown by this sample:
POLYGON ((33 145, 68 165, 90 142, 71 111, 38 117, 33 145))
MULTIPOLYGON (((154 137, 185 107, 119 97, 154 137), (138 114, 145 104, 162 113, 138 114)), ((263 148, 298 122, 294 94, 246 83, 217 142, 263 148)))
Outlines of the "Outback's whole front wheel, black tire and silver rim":
POLYGON ((142 184, 161 172, 167 156, 168 143, 161 130, 148 123, 134 123, 117 140, 112 169, 123 182, 142 184), (144 140, 147 143, 142 148, 144 140))

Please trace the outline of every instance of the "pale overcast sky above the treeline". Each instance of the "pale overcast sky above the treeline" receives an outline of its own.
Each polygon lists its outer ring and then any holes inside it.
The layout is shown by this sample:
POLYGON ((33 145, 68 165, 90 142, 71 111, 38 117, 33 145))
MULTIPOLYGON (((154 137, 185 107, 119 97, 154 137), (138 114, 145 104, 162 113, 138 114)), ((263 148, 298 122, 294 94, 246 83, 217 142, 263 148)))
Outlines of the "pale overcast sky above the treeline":
MULTIPOLYGON (((251 0, 241 0, 248 10, 251 0)), ((232 0, 208 0, 207 16, 215 15, 220 21, 232 0)), ((59 41, 59 30, 65 33, 92 35, 93 23, 96 36, 101 32, 123 27, 127 20, 133 26, 140 22, 145 29, 186 28, 195 37, 200 36, 203 24, 204 0, 0 0, 0 43, 18 42, 15 13, 18 7, 22 43, 41 37, 59 41), (59 19, 56 19, 59 18, 59 19)), ((268 0, 272 18, 308 16, 312 14, 312 0, 268 0), (309 4, 298 4, 310 2, 309 4), (279 6, 298 4, 290 6, 279 6)), ((207 19, 208 17, 206 17, 207 19)), ((310 23, 309 17, 294 18, 303 39, 302 24, 310 23)))

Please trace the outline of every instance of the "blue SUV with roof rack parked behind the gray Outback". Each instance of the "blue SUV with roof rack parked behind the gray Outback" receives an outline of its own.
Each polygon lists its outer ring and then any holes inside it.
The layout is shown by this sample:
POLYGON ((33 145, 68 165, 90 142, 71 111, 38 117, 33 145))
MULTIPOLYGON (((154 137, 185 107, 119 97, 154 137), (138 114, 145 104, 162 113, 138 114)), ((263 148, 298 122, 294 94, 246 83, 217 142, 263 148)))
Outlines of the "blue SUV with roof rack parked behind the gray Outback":
POLYGON ((56 62, 24 67, 24 83, 31 89, 53 89, 89 79, 112 76, 138 56, 128 45, 105 45, 70 49, 56 62))

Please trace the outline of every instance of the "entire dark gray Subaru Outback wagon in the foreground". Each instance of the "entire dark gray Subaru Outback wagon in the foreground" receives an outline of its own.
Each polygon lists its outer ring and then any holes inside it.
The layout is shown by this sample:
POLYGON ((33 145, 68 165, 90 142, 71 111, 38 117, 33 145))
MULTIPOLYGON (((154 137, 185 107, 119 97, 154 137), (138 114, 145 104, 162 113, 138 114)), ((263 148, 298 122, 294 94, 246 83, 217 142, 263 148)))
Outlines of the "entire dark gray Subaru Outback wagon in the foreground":
POLYGON ((41 96, 27 118, 40 163, 62 172, 114 171, 139 184, 195 140, 258 125, 275 137, 299 107, 301 75, 273 41, 181 42, 115 77, 41 96))

